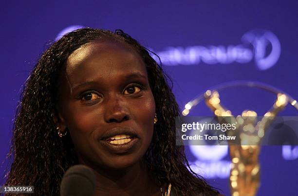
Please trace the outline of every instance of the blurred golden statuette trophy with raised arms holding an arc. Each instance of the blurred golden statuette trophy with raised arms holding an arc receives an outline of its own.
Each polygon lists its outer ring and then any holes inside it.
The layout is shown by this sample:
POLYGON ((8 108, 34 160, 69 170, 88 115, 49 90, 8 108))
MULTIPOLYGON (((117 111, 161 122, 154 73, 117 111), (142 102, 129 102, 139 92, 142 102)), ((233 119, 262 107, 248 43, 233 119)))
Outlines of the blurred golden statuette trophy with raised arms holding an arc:
MULTIPOLYGON (((260 186, 259 153, 262 138, 279 111, 286 107, 288 103, 298 109, 298 103, 289 95, 261 83, 242 82, 237 85, 266 89, 274 92, 277 98, 271 109, 260 120, 258 120, 257 113, 253 110, 244 110, 241 115, 233 116, 230 110, 222 106, 220 94, 217 90, 207 90, 202 96, 188 102, 182 113, 186 116, 192 107, 201 100, 205 100, 205 104, 212 110, 218 122, 236 123, 235 131, 225 132, 227 136, 236 136, 239 140, 236 143, 228 143, 232 161, 229 177, 231 195, 255 196, 260 186)), ((224 88, 233 86, 235 84, 225 85, 224 88)))

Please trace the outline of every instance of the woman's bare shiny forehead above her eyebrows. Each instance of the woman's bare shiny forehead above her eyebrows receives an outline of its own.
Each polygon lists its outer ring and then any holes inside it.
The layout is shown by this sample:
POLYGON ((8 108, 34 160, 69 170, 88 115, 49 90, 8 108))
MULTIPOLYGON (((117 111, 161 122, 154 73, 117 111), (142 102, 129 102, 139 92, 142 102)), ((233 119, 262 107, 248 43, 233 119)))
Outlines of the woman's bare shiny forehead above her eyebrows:
POLYGON ((141 56, 130 46, 115 41, 94 41, 72 53, 66 63, 71 86, 86 80, 111 79, 147 71, 141 56))

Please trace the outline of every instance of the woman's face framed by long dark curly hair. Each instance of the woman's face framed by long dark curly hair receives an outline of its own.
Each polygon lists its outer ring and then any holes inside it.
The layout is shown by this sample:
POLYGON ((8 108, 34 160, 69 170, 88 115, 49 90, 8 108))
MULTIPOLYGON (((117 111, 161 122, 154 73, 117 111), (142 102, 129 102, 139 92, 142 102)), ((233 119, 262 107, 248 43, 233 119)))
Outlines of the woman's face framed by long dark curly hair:
POLYGON ((155 103, 138 53, 123 43, 94 41, 70 55, 60 82, 58 125, 69 129, 81 163, 124 169, 143 157, 155 103))

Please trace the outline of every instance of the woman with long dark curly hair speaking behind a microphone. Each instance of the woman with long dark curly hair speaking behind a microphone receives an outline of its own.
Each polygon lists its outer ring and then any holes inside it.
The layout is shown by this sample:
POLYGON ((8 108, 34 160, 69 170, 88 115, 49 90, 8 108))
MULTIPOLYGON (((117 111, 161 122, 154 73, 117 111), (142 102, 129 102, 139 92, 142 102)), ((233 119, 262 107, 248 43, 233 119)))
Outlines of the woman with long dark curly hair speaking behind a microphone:
POLYGON ((179 114, 162 68, 136 40, 121 30, 68 33, 26 81, 6 185, 59 195, 64 172, 85 164, 94 195, 217 195, 175 145, 179 114))

